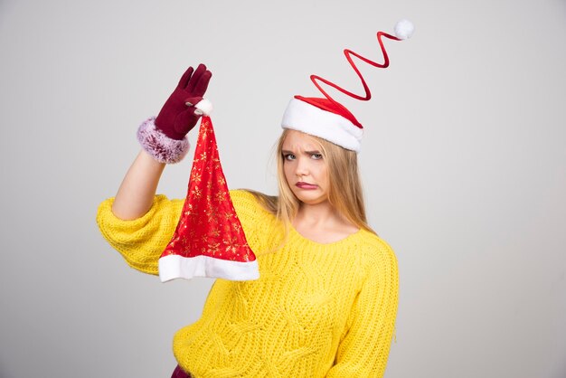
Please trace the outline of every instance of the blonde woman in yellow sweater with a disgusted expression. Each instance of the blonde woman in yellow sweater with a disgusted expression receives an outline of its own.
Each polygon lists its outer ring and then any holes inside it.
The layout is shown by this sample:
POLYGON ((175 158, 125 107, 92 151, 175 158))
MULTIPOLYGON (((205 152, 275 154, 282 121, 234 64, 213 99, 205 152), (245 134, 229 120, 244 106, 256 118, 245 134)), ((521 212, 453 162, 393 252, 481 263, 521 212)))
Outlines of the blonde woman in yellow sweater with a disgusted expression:
MULTIPOLYGON (((203 65, 185 72, 150 122, 151 136, 140 137, 144 150, 116 198, 99 207, 100 231, 146 273, 157 274, 183 207, 156 196, 156 186, 164 162, 184 155, 180 141, 197 121, 193 104, 210 78, 203 65)), ((215 281, 202 317, 175 335, 174 376, 382 376, 397 264, 366 222, 356 159, 361 132, 349 128, 355 118, 344 110, 325 99, 292 99, 278 142, 278 197, 231 191, 260 277, 215 281), (341 131, 328 132, 334 121, 341 131)))

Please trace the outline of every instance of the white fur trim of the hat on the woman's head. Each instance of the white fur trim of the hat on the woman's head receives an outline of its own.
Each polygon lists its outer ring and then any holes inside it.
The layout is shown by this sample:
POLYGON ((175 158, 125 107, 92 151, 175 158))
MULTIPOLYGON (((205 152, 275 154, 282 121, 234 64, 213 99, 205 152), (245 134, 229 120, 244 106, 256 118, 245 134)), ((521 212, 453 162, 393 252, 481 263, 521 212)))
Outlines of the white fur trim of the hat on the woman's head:
POLYGON ((362 128, 342 116, 316 108, 300 99, 290 100, 283 114, 281 127, 321 137, 345 149, 360 152, 362 128))

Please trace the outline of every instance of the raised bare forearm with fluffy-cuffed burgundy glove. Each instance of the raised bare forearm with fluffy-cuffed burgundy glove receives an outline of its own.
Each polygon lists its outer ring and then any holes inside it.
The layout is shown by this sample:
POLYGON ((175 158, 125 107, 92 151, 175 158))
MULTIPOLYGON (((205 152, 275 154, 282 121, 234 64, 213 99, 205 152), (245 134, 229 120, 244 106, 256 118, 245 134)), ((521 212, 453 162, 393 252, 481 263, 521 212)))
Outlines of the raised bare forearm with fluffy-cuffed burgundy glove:
POLYGON ((166 163, 180 161, 188 150, 186 134, 202 113, 194 105, 203 99, 212 73, 200 64, 189 67, 165 101, 157 118, 149 118, 137 131, 143 150, 127 171, 112 204, 112 213, 134 220, 151 208, 166 163))

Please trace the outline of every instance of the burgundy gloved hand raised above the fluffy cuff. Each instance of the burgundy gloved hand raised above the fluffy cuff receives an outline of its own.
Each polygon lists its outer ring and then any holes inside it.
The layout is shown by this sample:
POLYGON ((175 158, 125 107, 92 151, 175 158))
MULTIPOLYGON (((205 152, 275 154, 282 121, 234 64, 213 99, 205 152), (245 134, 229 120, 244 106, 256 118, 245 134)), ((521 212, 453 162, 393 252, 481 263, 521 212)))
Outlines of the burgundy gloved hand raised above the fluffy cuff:
POLYGON ((172 139, 184 139, 202 115, 194 105, 203 99, 211 77, 212 72, 204 64, 199 64, 194 72, 189 67, 159 112, 156 128, 172 139))

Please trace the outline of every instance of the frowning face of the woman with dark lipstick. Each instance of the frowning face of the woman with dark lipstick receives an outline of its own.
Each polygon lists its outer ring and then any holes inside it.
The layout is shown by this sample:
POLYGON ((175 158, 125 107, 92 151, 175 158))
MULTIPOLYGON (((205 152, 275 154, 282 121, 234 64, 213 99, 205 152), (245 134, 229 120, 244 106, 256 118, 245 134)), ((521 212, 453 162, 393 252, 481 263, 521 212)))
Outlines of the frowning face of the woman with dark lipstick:
POLYGON ((283 171, 289 188, 302 203, 317 204, 328 199, 325 156, 316 139, 290 130, 281 147, 283 171))

